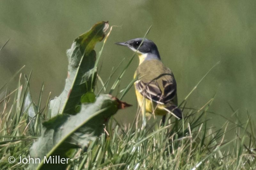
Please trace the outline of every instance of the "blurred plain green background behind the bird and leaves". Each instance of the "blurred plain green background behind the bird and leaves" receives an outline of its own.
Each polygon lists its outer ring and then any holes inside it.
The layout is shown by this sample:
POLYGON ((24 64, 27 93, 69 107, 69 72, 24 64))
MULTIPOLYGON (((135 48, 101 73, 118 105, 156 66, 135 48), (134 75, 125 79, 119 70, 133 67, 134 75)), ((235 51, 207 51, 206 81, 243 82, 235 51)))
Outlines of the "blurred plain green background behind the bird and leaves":
MULTIPOLYGON (((0 85, 26 65, 24 73, 33 70, 30 86, 35 101, 43 82, 44 101, 49 92, 52 97, 59 95, 67 75, 66 49, 78 35, 101 20, 119 26, 113 28, 100 61, 100 76, 106 81, 112 67, 125 57, 124 66, 132 56, 129 49, 114 43, 143 37, 152 25, 147 38, 156 43, 164 64, 174 72, 179 101, 220 61, 189 97, 187 107, 200 108, 217 92, 210 111, 230 118, 230 104, 239 109, 241 121, 247 111, 255 119, 255 9, 254 0, 1 0, 0 47, 10 41, 0 53, 0 85)), ((97 51, 101 45, 97 45, 97 51)), ((120 90, 132 80, 137 66, 136 57, 120 90)), ((133 107, 118 112, 116 117, 129 122, 137 109, 133 88, 124 101, 133 107)), ((208 116, 216 126, 225 121, 218 115, 208 116)))

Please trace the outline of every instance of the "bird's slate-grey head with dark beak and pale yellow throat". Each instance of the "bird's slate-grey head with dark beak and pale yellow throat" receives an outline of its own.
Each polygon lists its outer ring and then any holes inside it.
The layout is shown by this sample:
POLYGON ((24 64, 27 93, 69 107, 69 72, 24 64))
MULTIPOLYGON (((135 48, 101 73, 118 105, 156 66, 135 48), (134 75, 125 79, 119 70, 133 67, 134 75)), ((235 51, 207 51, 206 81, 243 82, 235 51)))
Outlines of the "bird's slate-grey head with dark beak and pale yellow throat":
POLYGON ((140 63, 142 63, 145 59, 160 60, 160 55, 156 44, 146 38, 135 38, 125 42, 117 42, 116 44, 126 46, 132 51, 137 52, 140 58, 140 63))

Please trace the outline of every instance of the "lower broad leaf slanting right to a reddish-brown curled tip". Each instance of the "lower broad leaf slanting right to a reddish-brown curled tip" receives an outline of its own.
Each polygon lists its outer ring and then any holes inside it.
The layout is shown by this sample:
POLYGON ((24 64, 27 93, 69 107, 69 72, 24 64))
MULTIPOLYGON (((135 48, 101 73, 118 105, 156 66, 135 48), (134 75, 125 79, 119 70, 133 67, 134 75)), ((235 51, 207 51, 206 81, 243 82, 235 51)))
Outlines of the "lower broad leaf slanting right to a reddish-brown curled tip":
POLYGON ((30 156, 40 158, 41 164, 31 164, 30 169, 65 169, 68 164, 44 164, 44 159, 56 155, 69 158, 74 148, 86 147, 102 134, 104 123, 123 105, 129 106, 102 94, 94 103, 82 104, 76 115, 61 114, 44 122, 41 137, 30 148, 30 156))

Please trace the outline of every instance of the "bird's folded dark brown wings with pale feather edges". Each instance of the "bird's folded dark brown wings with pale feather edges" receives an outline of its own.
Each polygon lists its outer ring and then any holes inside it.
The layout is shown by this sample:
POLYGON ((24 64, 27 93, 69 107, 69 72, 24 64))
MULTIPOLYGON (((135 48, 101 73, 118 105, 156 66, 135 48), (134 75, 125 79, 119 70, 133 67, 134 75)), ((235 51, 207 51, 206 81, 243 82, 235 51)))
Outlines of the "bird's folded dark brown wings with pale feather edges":
POLYGON ((176 95, 176 82, 172 75, 163 75, 148 83, 138 80, 135 88, 142 96, 159 104, 170 102, 176 95))

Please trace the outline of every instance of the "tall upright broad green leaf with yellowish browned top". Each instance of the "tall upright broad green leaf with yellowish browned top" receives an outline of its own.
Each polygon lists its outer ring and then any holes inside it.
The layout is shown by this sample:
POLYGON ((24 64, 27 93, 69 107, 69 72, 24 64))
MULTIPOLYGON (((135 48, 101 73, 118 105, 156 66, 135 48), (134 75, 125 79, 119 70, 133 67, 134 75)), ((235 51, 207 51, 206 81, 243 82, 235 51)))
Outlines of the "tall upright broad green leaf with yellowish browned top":
POLYGON ((59 97, 50 101, 49 110, 51 116, 58 114, 76 114, 76 107, 86 92, 92 92, 96 74, 94 64, 96 52, 94 46, 105 37, 108 29, 108 22, 99 22, 92 28, 75 39, 68 56, 68 78, 63 92, 59 97), (93 77, 93 80, 92 80, 93 77))

